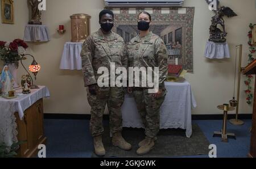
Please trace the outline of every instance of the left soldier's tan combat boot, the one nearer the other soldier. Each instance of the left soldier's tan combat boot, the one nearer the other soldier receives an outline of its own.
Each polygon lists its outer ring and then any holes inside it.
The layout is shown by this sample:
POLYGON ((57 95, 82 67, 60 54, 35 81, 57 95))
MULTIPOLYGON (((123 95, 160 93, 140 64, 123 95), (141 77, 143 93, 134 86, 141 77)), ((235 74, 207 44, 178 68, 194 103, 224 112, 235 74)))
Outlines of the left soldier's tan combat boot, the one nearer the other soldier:
POLYGON ((131 150, 130 143, 125 141, 125 139, 122 137, 121 132, 117 132, 113 134, 112 143, 114 146, 117 146, 122 150, 131 150))

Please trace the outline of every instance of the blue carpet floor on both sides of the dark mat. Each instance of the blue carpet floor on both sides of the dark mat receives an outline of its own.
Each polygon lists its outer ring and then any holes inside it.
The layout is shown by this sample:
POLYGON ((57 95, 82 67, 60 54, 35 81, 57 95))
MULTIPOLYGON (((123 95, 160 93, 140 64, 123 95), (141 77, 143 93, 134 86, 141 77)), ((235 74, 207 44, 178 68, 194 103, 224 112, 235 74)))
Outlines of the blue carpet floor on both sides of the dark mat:
MULTIPOLYGON (((251 120, 244 120, 242 126, 235 126, 228 122, 228 132, 235 133, 237 140, 229 139, 228 143, 221 142, 221 138, 212 137, 214 131, 220 131, 222 120, 196 120, 208 141, 217 146, 217 157, 246 158, 250 147, 251 120)), ((108 124, 108 121, 104 121, 108 124)), ((47 137, 46 154, 51 157, 83 158, 91 157, 93 140, 89 132, 89 120, 56 120, 45 119, 44 129, 47 137)), ((183 156, 190 158, 204 158, 208 155, 183 156)))

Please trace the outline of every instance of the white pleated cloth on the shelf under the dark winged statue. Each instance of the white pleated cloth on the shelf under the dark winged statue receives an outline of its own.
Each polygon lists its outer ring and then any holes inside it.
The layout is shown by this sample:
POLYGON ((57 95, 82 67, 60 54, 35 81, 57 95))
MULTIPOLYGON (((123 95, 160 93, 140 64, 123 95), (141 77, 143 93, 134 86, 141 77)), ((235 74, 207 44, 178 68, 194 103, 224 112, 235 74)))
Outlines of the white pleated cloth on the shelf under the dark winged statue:
POLYGON ((208 41, 205 45, 204 56, 210 59, 230 58, 228 43, 214 43, 208 41))

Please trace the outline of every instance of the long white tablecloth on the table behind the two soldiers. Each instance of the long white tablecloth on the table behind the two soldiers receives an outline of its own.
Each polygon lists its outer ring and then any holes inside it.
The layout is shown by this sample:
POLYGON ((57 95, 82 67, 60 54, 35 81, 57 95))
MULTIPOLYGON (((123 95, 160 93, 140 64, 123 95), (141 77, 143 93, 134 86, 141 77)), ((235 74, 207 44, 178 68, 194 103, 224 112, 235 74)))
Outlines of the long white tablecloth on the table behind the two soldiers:
MULTIPOLYGON (((168 93, 160 108, 160 129, 186 129, 186 136, 191 137, 191 109, 196 108, 196 100, 191 85, 187 81, 181 83, 165 82, 165 84, 168 93)), ((143 128, 133 96, 125 96, 122 116, 124 127, 143 128)))

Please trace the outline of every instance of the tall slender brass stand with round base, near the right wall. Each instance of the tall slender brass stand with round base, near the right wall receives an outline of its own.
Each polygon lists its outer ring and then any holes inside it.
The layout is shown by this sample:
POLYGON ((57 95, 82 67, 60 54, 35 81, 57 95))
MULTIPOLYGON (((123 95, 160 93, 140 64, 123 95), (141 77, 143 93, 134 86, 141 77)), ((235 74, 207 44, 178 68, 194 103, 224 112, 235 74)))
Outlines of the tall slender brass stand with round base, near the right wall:
MULTIPOLYGON (((240 96, 240 80, 241 80, 241 63, 242 63, 242 45, 236 46, 236 66, 235 66, 235 78, 234 78, 234 84, 236 84, 236 70, 237 70, 237 48, 239 47, 240 50, 240 56, 239 56, 239 63, 238 63, 238 84, 237 84, 237 100, 235 100, 235 97, 233 95, 233 99, 229 101, 230 105, 233 107, 236 107, 236 119, 230 119, 229 122, 233 125, 243 125, 243 121, 238 119, 238 110, 239 110, 239 96, 240 96)), ((235 93, 235 85, 234 85, 234 93, 235 93)))

